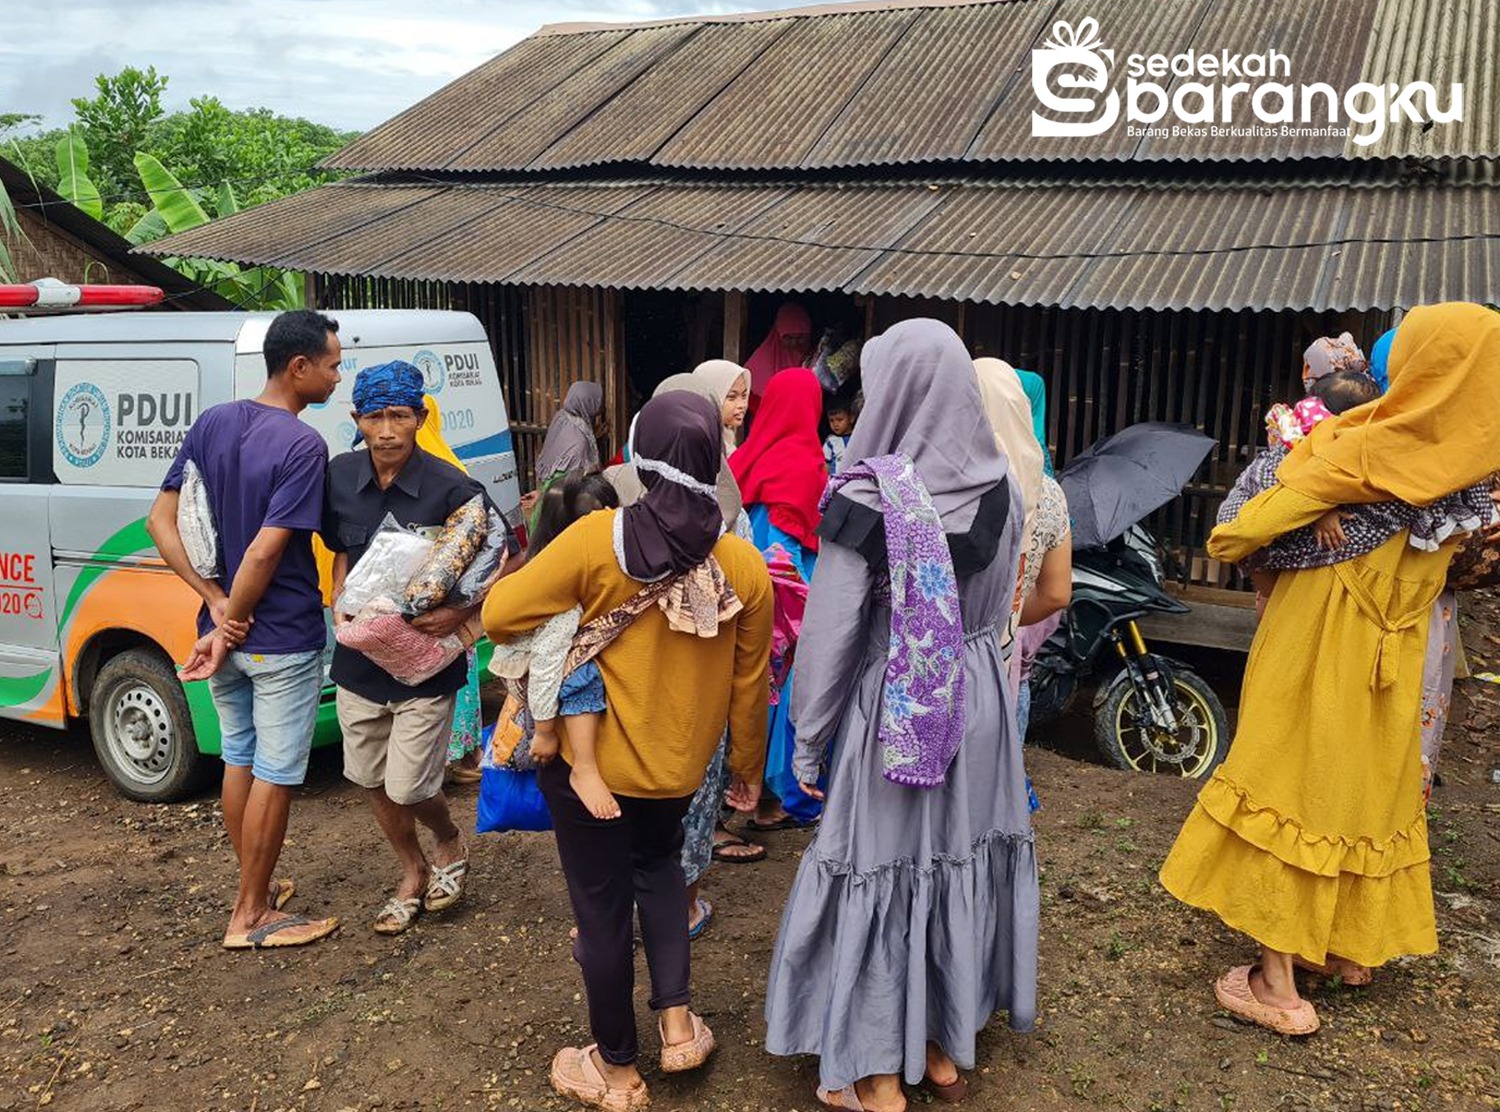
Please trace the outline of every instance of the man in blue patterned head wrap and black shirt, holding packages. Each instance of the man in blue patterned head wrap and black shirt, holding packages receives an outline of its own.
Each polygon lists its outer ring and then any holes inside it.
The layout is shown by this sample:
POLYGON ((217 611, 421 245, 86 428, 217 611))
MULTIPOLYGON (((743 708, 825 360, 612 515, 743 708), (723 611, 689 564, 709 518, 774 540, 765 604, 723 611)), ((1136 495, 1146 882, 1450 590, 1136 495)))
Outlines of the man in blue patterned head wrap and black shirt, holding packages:
MULTIPOLYGON (((484 488, 417 444, 428 419, 422 371, 406 362, 381 363, 354 380, 356 444, 328 464, 324 497, 324 543, 336 554, 333 599, 338 611, 344 581, 370 549, 381 522, 393 518, 405 530, 435 534, 453 510, 484 488)), ((477 611, 440 606, 412 620, 423 633, 459 632, 477 611)), ((342 626, 350 614, 334 612, 342 626)), ((462 635, 465 641, 468 635, 462 635)), ((468 846, 453 822, 442 774, 458 692, 468 678, 465 657, 420 684, 405 684, 346 645, 333 650, 330 678, 338 686, 344 731, 344 774, 368 789, 370 806, 400 863, 396 893, 376 912, 382 935, 406 930, 418 914, 452 906, 464 894, 468 846), (417 824, 436 840, 429 861, 417 840, 417 824)))

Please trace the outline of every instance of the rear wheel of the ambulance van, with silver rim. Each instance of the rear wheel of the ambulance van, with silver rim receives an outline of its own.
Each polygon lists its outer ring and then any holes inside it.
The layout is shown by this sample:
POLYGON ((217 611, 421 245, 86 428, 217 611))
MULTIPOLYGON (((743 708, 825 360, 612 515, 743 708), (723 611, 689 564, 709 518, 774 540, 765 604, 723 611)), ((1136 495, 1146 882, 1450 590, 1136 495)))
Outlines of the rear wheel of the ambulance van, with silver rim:
POLYGON ((208 762, 198 752, 188 696, 154 650, 129 648, 105 662, 88 692, 88 732, 99 764, 128 798, 174 803, 202 783, 208 762))

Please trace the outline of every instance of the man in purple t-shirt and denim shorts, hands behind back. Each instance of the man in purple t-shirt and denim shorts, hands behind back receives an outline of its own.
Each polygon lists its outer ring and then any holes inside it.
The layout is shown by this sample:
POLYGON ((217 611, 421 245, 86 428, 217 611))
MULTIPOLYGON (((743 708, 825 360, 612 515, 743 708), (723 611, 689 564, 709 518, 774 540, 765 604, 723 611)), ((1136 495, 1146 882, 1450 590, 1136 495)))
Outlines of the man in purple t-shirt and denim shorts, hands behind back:
POLYGON ((291 881, 272 882, 291 791, 303 782, 322 692, 324 617, 312 534, 322 524, 328 446, 298 420, 339 384, 339 326, 300 309, 266 333, 266 390, 206 410, 147 518, 168 566, 202 599, 183 681, 208 680, 224 738, 224 822, 240 860, 226 950, 306 945, 336 918, 288 915, 291 881), (202 474, 224 557, 204 579, 177 531, 183 468, 202 474))

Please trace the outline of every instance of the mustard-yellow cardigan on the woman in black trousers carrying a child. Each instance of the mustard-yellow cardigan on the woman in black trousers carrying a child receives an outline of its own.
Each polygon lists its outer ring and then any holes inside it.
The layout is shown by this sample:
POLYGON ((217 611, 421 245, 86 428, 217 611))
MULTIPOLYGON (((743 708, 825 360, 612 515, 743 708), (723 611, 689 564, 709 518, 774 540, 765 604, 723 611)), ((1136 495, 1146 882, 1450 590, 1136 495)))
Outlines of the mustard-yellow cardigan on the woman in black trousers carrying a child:
MULTIPOLYGON (((492 641, 526 633, 573 606, 582 606, 584 621, 592 621, 640 590, 615 561, 615 513, 597 510, 574 522, 495 585, 484 602, 484 632, 492 641)), ((765 771, 771 576, 754 546, 738 537, 720 537, 714 557, 744 603, 717 636, 674 633, 662 609, 652 606, 596 660, 608 705, 598 732, 598 771, 612 792, 692 795, 726 722, 729 768, 750 782, 759 782, 765 771)), ((570 759, 566 735, 562 756, 570 759)))

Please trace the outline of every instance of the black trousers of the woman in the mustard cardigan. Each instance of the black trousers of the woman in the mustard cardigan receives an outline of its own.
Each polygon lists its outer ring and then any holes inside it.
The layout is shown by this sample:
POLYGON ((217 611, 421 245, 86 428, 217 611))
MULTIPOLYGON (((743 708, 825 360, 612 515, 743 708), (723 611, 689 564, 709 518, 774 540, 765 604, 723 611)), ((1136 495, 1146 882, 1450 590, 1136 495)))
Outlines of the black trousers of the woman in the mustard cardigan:
POLYGON ((651 969, 651 1010, 678 1007, 690 998, 682 816, 693 797, 620 795, 620 818, 598 819, 568 785, 570 771, 567 762, 555 759, 542 768, 537 783, 552 812, 578 921, 573 953, 584 969, 598 1056, 610 1065, 628 1065, 639 1053, 633 912, 640 915, 640 941, 651 969))

